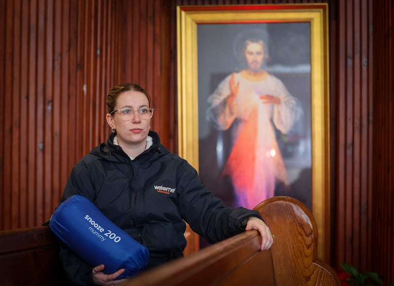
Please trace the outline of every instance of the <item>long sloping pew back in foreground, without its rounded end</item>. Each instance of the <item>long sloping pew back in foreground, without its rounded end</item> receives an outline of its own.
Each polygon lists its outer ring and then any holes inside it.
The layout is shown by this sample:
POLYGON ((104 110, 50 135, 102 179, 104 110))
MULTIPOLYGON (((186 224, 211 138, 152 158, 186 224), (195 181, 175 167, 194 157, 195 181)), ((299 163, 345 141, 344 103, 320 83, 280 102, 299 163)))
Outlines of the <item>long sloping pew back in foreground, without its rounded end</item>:
POLYGON ((199 252, 179 258, 132 278, 126 286, 264 285, 274 286, 271 251, 260 251, 261 236, 240 233, 199 252))

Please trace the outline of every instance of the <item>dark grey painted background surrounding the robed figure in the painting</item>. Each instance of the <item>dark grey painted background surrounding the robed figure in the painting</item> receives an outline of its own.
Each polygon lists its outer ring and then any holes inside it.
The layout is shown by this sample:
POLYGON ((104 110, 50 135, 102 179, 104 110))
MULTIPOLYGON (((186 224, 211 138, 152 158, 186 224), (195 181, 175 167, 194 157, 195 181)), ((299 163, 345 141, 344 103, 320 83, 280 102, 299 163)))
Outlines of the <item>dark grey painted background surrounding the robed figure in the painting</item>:
MULTIPOLYGON (((231 72, 239 71, 233 40, 245 29, 261 29, 270 35, 269 59, 265 68, 282 80, 298 98, 304 116, 290 135, 277 132, 290 183, 290 190, 278 186, 275 195, 299 199, 311 209, 311 82, 309 23, 207 24, 197 25, 198 47, 198 137, 199 174, 203 184, 227 205, 237 206, 229 178, 221 178, 230 153, 230 132, 217 131, 206 120, 207 98, 231 72), (224 142, 224 159, 216 151, 218 138, 224 142)), ((247 152, 247 151, 245 151, 247 152)), ((258 204, 259 202, 256 202, 258 204)), ((204 244, 204 242, 202 242, 204 244)))

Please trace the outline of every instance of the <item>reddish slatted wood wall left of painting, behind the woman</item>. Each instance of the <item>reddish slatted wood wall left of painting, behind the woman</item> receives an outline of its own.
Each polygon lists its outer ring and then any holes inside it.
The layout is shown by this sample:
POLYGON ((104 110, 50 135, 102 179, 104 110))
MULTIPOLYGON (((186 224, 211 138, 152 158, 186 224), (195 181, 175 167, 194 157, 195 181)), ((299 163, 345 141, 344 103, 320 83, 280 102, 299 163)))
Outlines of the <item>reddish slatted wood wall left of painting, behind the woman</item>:
POLYGON ((72 166, 109 134, 105 99, 114 85, 148 90, 153 129, 175 151, 167 7, 161 0, 0 0, 0 229, 50 218, 72 166))

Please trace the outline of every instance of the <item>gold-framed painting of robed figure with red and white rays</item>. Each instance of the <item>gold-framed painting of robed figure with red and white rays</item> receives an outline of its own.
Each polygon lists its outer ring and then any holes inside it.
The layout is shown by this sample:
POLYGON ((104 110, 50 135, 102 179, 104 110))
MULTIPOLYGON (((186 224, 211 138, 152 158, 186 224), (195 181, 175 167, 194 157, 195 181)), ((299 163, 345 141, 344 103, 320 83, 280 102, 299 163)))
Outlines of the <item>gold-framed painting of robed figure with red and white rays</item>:
POLYGON ((229 206, 300 200, 328 259, 327 4, 178 6, 177 48, 179 155, 229 206))

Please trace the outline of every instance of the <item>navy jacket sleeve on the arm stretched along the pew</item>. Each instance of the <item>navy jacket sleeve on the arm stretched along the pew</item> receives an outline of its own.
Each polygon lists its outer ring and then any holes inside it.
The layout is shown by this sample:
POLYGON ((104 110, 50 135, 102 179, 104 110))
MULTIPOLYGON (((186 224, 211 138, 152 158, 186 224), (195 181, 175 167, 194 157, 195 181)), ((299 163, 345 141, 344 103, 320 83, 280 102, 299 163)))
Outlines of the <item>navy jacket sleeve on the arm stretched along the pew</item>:
POLYGON ((188 163, 183 164, 179 174, 178 202, 182 218, 209 243, 244 231, 244 220, 248 217, 262 219, 258 211, 226 206, 201 184, 197 171, 188 163))

